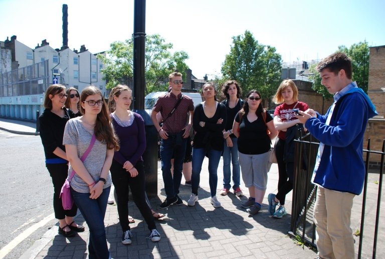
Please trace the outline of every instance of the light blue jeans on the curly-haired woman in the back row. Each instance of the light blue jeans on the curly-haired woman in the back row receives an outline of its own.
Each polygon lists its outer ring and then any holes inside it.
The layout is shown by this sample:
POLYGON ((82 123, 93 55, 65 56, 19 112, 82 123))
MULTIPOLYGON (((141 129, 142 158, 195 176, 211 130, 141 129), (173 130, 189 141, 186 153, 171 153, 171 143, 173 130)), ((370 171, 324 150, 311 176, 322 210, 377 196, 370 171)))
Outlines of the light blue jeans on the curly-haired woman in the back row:
POLYGON ((241 167, 238 160, 238 139, 231 138, 233 147, 228 147, 225 140, 223 150, 223 188, 230 190, 231 168, 230 163, 233 164, 233 189, 236 190, 241 184, 241 167))

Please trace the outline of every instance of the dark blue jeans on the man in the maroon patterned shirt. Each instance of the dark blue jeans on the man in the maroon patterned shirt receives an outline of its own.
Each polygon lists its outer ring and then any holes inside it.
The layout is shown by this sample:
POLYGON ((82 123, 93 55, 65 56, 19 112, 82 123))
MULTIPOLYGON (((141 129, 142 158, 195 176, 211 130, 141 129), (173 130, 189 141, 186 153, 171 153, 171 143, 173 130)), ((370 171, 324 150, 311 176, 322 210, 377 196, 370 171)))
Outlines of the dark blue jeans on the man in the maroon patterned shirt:
POLYGON ((160 161, 167 200, 173 199, 179 193, 182 180, 182 167, 186 153, 186 140, 182 133, 168 134, 167 140, 160 142, 160 161), (180 135, 180 137, 178 136, 180 135), (171 158, 174 155, 174 173, 171 175, 171 158))

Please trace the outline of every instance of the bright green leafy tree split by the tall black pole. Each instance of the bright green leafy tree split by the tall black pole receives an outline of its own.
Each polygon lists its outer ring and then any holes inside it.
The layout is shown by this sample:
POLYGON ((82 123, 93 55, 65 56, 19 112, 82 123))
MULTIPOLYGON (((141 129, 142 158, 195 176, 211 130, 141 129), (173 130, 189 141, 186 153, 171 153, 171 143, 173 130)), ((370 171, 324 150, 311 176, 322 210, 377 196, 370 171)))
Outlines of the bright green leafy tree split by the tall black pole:
MULTIPOLYGON (((107 55, 98 55, 105 64, 102 70, 103 79, 107 80, 107 88, 112 88, 118 83, 130 85, 133 77, 133 39, 124 42, 111 43, 107 55)), ((181 71, 185 80, 184 63, 188 55, 184 51, 171 54, 172 43, 166 43, 158 34, 147 35, 144 53, 145 69, 145 94, 153 91, 168 89, 168 75, 174 70, 181 71)))

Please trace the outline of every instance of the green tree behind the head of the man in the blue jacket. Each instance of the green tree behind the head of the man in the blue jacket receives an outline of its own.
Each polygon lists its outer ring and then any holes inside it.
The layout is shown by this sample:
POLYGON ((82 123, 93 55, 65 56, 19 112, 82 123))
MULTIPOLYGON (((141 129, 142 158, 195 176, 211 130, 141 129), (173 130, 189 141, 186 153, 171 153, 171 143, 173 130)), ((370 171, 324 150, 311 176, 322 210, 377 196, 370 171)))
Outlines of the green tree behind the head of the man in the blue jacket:
POLYGON ((357 86, 367 93, 369 81, 369 46, 367 42, 353 44, 350 48, 338 46, 338 51, 344 52, 351 59, 353 70, 352 79, 357 82, 357 86))

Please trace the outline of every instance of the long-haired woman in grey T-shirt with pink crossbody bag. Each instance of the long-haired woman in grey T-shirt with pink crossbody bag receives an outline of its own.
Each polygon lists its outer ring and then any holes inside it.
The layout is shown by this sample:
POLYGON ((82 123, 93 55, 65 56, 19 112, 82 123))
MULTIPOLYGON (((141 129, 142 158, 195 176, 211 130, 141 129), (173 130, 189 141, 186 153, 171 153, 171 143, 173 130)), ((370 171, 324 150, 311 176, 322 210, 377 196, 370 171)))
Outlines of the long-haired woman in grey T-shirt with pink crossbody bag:
POLYGON ((109 169, 119 144, 99 89, 86 87, 80 96, 80 108, 84 115, 67 122, 63 137, 70 161, 68 175, 72 170, 76 172, 70 181, 71 194, 89 226, 89 258, 109 258, 104 215, 111 187, 109 169), (80 157, 93 135, 96 141, 82 161, 80 157))

